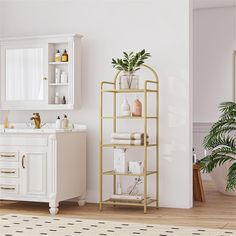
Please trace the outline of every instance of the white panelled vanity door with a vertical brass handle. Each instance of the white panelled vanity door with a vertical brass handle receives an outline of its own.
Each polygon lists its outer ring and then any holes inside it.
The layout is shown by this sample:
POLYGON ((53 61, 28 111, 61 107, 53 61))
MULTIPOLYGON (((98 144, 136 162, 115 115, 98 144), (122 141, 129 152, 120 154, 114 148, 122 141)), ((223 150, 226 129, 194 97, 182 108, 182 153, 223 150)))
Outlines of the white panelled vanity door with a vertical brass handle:
POLYGON ((47 153, 26 150, 21 153, 21 187, 31 197, 47 194, 47 153))

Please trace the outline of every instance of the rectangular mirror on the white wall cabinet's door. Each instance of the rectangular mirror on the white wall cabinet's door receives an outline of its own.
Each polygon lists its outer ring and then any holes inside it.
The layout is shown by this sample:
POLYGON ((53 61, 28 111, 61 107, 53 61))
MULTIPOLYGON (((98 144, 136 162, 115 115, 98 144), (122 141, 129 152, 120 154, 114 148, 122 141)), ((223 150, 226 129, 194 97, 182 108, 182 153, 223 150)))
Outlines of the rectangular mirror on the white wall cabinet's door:
POLYGON ((43 100, 43 77, 43 48, 6 49, 7 101, 43 100))

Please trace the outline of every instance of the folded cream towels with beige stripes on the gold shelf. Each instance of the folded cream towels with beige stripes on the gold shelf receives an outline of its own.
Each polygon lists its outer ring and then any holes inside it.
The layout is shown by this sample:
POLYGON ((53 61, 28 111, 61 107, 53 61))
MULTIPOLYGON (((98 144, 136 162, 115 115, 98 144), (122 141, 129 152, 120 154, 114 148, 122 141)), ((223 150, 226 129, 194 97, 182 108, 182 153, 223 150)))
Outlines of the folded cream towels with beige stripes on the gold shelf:
POLYGON ((144 145, 144 133, 112 133, 111 143, 121 145, 144 145))

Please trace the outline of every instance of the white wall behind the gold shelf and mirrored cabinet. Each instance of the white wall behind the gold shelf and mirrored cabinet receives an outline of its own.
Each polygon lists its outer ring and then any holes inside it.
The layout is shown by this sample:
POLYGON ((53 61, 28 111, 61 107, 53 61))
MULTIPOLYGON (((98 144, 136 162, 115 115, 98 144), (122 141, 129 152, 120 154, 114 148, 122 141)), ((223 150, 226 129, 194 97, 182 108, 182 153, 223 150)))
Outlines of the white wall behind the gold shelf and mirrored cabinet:
MULTIPOLYGON (((189 0, 5 1, 1 7, 4 36, 84 35, 83 107, 68 114, 88 126, 90 202, 99 196, 99 82, 113 78, 111 58, 123 50, 151 52, 149 64, 160 76, 160 205, 191 207, 189 0)), ((57 114, 41 112, 44 122, 57 114)), ((12 111, 10 121, 26 122, 30 115, 12 111)))

